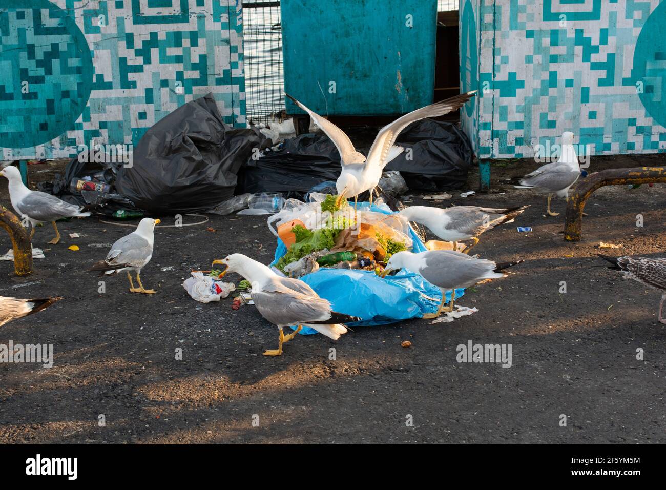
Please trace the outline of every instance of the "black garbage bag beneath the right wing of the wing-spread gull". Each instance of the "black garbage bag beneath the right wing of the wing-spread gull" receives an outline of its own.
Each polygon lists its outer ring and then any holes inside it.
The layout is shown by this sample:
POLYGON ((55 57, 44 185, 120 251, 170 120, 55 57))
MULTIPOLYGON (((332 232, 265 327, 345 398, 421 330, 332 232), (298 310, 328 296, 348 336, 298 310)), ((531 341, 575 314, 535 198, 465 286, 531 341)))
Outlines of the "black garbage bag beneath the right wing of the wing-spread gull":
POLYGON ((458 125, 421 119, 400 133, 396 145, 411 148, 412 159, 403 151, 384 170, 400 171, 410 189, 450 191, 466 185, 474 152, 458 125))

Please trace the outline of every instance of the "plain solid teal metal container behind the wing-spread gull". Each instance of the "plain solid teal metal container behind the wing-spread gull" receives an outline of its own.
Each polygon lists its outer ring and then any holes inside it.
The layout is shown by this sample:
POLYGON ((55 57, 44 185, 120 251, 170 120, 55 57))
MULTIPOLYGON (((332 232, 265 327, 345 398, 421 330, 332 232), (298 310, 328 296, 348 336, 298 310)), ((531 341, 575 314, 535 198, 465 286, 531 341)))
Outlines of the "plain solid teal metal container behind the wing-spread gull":
MULTIPOLYGON (((432 103, 436 0, 282 0, 284 89, 322 115, 432 103)), ((288 114, 301 113, 286 101, 288 114)))

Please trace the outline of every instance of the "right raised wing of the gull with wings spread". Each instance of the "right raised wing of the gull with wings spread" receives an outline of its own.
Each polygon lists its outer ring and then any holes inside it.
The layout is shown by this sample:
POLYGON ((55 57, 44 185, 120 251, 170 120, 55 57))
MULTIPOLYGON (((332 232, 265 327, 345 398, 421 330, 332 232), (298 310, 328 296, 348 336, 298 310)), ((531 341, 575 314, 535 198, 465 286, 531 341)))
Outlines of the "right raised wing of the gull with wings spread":
POLYGON ((402 117, 399 117, 387 126, 384 126, 377 134, 370 151, 368 151, 368 161, 372 161, 373 165, 379 165, 382 169, 392 159, 400 155, 402 149, 392 149, 396 138, 400 132, 408 127, 414 121, 425 119, 426 117, 437 117, 448 114, 452 111, 460 109, 468 100, 472 99, 476 91, 462 93, 451 97, 444 101, 436 102, 426 107, 421 107, 412 111, 402 117))

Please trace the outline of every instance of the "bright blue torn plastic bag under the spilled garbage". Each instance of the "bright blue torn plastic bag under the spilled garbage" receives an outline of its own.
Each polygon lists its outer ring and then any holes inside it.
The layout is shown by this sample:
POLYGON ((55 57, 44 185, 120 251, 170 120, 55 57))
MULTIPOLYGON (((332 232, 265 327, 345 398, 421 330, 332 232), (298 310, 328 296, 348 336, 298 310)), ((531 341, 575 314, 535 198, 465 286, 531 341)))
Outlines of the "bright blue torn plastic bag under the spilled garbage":
MULTIPOLYGON (((369 203, 358 203, 358 209, 370 209, 386 215, 393 211, 369 203)), ((426 251, 426 246, 414 230, 410 228, 414 242, 412 251, 426 251)), ((275 263, 287 252, 284 243, 278 238, 275 250, 275 263)), ((318 271, 304 275, 301 281, 307 283, 324 299, 330 301, 333 310, 361 318, 361 321, 348 323, 356 325, 386 325, 437 311, 442 300, 439 287, 430 284, 421 275, 406 269, 396 275, 379 277, 374 271, 355 269, 332 269, 322 267, 318 271)), ((464 295, 464 289, 456 289, 456 299, 464 295)), ((446 298, 451 299, 447 291, 446 298)), ((292 327, 294 328, 294 327, 292 327)), ((317 333, 310 327, 303 327, 300 333, 317 333)))

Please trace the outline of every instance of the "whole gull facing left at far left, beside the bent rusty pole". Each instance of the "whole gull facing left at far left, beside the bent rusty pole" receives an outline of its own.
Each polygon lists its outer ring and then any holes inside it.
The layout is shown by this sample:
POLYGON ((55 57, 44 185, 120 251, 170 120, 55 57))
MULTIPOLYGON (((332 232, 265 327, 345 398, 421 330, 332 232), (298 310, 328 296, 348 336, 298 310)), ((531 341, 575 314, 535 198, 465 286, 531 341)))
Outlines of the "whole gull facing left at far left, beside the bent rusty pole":
POLYGON ((55 238, 49 243, 55 245, 60 241, 60 233, 55 221, 66 217, 90 216, 89 211, 83 212, 83 206, 66 203, 57 197, 40 191, 31 191, 23 184, 21 172, 9 165, 0 170, 0 175, 9 181, 9 200, 21 219, 27 217, 32 225, 30 239, 35 235, 35 225, 51 221, 55 229, 55 238))

